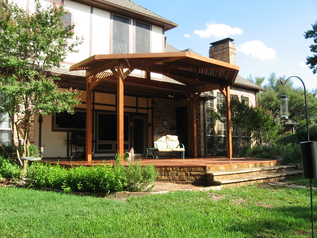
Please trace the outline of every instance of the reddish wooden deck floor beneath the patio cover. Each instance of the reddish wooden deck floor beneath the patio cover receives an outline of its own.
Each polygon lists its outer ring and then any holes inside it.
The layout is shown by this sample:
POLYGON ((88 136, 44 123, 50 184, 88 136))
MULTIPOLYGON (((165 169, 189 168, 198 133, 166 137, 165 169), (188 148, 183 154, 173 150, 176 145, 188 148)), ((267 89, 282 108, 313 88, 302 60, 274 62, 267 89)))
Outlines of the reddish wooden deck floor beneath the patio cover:
MULTIPOLYGON (((70 167, 70 166, 92 166, 98 164, 113 164, 115 162, 114 157, 95 157, 93 161, 87 162, 85 160, 80 160, 81 158, 73 158, 70 161, 70 158, 43 158, 42 162, 49 162, 52 164, 56 164, 57 162, 61 166, 70 167)), ((249 164, 258 164, 258 163, 270 163, 270 162, 280 162, 279 160, 268 160, 261 158, 250 158, 250 157, 241 157, 241 158, 232 158, 228 159, 226 157, 198 157, 198 158, 185 158, 185 159, 176 159, 168 157, 162 157, 160 159, 145 159, 140 157, 132 157, 131 162, 133 161, 141 161, 142 165, 146 165, 149 163, 153 163, 155 167, 216 167, 212 170, 223 170, 223 169, 231 169, 230 166, 234 165, 249 165, 249 164), (219 168, 217 168, 219 167, 219 168), (220 168, 221 167, 221 168, 220 168)), ((124 161, 124 165, 128 162, 124 161)))

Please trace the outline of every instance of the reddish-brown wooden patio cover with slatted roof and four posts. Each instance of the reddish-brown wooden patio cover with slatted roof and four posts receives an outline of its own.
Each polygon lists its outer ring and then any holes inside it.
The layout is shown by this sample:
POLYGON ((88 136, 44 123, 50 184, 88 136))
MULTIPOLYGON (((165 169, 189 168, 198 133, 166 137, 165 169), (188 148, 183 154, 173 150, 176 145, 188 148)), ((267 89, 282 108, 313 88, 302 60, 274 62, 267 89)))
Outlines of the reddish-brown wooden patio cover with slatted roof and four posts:
MULTIPOLYGON (((190 52, 138 53, 94 55, 72 65, 70 71, 86 70, 87 122, 86 160, 91 161, 92 147, 92 90, 101 80, 117 82, 117 145, 123 155, 123 90, 124 84, 169 89, 184 92, 191 101, 192 122, 196 121, 196 101, 202 92, 219 89, 226 98, 226 129, 228 158, 232 158, 230 86, 239 67, 190 52), (146 72, 145 77, 131 76, 134 69, 146 72), (109 71, 110 70, 110 71, 109 71), (168 76, 178 83, 151 79, 151 72, 168 76)), ((192 123, 193 156, 197 157, 196 123, 192 123)))

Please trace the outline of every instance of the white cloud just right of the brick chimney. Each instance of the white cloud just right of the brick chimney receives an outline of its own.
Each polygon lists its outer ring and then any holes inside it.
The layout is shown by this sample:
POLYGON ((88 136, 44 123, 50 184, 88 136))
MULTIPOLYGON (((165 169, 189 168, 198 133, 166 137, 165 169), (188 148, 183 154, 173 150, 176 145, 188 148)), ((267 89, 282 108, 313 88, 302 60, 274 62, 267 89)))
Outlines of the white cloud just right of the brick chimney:
POLYGON ((240 44, 237 50, 246 55, 251 55, 251 58, 259 58, 262 60, 277 58, 275 50, 268 48, 262 41, 245 42, 240 44))

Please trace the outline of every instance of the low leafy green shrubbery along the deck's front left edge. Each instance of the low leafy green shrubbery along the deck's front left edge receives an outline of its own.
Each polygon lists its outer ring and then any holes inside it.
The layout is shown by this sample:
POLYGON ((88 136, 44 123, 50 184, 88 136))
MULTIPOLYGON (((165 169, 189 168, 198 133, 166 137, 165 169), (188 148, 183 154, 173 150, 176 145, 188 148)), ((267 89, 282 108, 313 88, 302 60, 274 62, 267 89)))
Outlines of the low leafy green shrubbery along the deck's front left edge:
POLYGON ((140 162, 130 162, 124 166, 123 158, 118 156, 113 165, 78 166, 69 170, 59 165, 34 163, 26 174, 28 186, 94 193, 146 191, 154 187, 158 172, 153 164, 142 166, 140 162))

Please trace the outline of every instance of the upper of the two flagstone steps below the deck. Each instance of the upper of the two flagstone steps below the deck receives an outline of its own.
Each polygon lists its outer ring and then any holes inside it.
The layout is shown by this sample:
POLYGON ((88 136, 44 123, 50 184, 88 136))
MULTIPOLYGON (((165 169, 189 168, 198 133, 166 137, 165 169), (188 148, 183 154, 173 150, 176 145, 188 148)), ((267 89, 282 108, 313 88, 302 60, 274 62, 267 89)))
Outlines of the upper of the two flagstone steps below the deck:
POLYGON ((208 171, 206 172, 208 180, 219 180, 219 179, 229 179, 237 177, 245 177, 252 175, 262 175, 270 173, 280 173, 293 171, 296 166, 294 165, 280 165, 280 166, 262 166, 257 168, 245 168, 245 169, 228 169, 219 171, 208 171), (211 176, 211 177, 210 177, 211 176))

